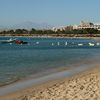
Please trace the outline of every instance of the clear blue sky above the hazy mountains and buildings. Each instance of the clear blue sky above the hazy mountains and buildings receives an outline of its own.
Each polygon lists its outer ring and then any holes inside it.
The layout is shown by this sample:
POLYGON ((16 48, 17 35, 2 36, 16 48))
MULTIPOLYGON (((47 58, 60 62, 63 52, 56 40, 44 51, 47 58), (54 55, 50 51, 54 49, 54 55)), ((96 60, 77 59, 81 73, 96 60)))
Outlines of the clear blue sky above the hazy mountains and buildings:
POLYGON ((100 22, 100 0, 0 0, 0 25, 32 21, 50 25, 100 22))

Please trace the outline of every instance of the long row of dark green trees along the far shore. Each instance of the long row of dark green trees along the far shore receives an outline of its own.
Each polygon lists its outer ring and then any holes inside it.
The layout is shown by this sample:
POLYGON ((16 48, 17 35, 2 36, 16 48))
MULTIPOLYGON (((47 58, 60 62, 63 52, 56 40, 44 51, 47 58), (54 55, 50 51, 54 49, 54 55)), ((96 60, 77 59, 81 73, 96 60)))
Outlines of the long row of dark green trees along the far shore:
POLYGON ((67 27, 65 30, 60 30, 58 29, 57 31, 52 31, 52 30, 36 30, 34 28, 32 28, 30 31, 26 30, 26 29, 16 29, 14 30, 8 30, 8 31, 2 31, 0 32, 0 34, 6 35, 6 34, 10 34, 10 35, 56 35, 56 36, 90 36, 91 34, 100 34, 100 31, 97 29, 92 29, 92 28, 87 28, 87 29, 72 29, 71 26, 67 27), (88 35, 87 35, 88 34, 88 35))

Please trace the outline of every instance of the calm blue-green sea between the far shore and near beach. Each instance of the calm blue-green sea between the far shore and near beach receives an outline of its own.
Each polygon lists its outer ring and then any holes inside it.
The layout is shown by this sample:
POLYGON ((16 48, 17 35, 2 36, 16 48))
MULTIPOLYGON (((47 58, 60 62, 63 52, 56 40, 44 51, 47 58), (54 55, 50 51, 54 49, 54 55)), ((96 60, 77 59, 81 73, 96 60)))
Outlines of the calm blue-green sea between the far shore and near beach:
MULTIPOLYGON (((10 38, 0 37, 0 41, 10 38)), ((0 42, 0 86, 31 75, 49 73, 53 69, 93 65, 100 60, 98 40, 28 37, 17 39, 28 44, 0 42)))

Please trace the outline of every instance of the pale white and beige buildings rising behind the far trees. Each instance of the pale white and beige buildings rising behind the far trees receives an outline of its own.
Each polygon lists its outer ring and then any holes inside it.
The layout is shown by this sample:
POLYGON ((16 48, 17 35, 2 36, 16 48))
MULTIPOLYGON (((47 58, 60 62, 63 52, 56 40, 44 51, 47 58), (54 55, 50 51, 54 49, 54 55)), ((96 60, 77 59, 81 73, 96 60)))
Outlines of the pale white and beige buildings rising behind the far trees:
POLYGON ((81 21, 79 25, 53 27, 52 30, 56 32, 58 30, 64 31, 64 30, 87 29, 87 28, 100 30, 100 23, 92 23, 92 22, 81 21))

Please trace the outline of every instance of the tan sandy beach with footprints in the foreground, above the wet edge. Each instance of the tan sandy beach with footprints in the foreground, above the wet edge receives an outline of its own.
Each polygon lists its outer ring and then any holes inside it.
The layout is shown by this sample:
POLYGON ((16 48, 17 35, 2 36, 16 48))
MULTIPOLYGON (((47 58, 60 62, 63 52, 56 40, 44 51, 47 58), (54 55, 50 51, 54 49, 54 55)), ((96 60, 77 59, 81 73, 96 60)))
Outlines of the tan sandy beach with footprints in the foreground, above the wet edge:
POLYGON ((100 100, 100 67, 9 94, 0 100, 100 100))

